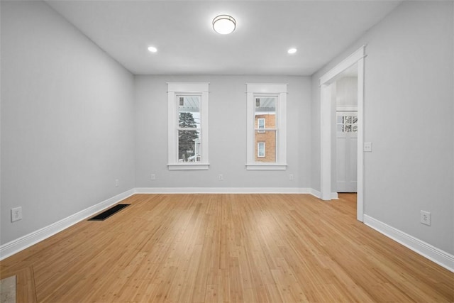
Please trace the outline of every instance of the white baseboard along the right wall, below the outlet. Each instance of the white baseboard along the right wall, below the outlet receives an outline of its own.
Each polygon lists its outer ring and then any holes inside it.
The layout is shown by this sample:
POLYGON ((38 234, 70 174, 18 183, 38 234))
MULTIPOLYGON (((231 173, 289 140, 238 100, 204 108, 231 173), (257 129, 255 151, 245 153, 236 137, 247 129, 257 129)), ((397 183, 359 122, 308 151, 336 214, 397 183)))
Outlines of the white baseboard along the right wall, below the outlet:
POLYGON ((454 272, 454 255, 446 253, 445 251, 431 246, 431 244, 410 236, 408 233, 399 231, 399 229, 384 224, 382 221, 372 218, 371 216, 364 215, 364 224, 374 228, 376 231, 384 234, 389 238, 392 238, 394 241, 401 243, 403 246, 410 248, 419 255, 422 255, 428 260, 431 260, 438 265, 443 266, 447 270, 454 272))

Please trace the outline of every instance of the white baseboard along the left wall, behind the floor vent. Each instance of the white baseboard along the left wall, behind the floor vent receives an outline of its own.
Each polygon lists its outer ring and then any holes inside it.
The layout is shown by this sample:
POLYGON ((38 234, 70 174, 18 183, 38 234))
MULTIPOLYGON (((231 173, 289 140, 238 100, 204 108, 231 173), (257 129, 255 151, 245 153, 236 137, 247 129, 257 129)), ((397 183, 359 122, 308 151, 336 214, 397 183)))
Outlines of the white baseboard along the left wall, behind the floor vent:
POLYGON ((76 224, 77 222, 87 219, 89 216, 93 216, 97 212, 111 205, 114 205, 133 194, 135 194, 135 189, 129 189, 126 192, 117 194, 115 197, 111 197, 94 206, 90 206, 87 209, 79 211, 76 214, 72 214, 71 216, 68 216, 67 218, 60 221, 57 221, 54 224, 40 228, 38 229, 38 231, 33 231, 32 233, 28 233, 28 235, 26 236, 17 238, 16 240, 10 241, 9 243, 5 243, 4 245, 0 246, 0 260, 8 258, 10 255, 33 246, 34 244, 55 235, 55 233, 59 233, 60 231, 63 231, 64 229, 76 224))

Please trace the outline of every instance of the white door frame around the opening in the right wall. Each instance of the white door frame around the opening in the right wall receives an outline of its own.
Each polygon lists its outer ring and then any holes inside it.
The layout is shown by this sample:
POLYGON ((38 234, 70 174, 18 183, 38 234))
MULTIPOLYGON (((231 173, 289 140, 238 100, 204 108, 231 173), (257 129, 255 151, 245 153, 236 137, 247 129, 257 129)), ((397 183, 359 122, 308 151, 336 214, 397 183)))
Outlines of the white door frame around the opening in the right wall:
POLYGON ((341 73, 355 64, 358 64, 358 195, 357 214, 358 221, 364 215, 364 58, 365 45, 340 62, 336 67, 320 77, 320 112, 321 112, 321 199, 331 200, 331 87, 341 73))

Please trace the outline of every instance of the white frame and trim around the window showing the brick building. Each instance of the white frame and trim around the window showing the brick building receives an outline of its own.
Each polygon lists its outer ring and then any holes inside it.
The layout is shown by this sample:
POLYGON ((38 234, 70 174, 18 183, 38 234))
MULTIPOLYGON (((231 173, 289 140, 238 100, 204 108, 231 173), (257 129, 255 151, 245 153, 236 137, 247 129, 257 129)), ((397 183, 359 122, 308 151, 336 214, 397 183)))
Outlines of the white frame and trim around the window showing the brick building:
POLYGON ((287 169, 287 84, 246 83, 247 95, 247 170, 286 170, 287 169), (276 162, 255 161, 255 98, 277 97, 276 104, 276 162))

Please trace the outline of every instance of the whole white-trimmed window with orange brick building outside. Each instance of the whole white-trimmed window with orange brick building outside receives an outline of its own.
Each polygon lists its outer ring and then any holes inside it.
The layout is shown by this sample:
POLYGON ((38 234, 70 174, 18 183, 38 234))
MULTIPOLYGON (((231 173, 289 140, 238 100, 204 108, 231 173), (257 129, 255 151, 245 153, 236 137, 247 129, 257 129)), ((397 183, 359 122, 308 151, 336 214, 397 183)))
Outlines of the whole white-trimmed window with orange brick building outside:
POLYGON ((247 85, 248 170, 287 168, 287 84, 247 85))

